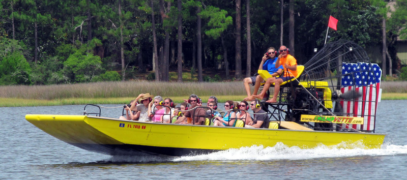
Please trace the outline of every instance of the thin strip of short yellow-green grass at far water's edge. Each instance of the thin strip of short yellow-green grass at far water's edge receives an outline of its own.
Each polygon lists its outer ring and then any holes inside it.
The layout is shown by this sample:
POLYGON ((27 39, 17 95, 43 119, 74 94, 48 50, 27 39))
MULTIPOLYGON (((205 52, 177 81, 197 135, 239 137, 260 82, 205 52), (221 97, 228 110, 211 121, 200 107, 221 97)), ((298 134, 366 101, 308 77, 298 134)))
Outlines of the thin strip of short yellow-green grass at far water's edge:
MULTIPOLYGON (((227 100, 242 101, 246 96, 221 95, 216 96, 219 102, 227 100)), ((0 107, 24 107, 24 106, 62 106, 62 105, 85 105, 85 104, 128 104, 135 97, 120 98, 64 98, 54 100, 0 98, 0 107)), ((164 97, 163 97, 164 98, 164 97)), ((183 102, 188 97, 170 97, 176 104, 183 102)), ((206 103, 209 96, 201 96, 202 103, 206 103)), ((407 93, 383 93, 382 100, 407 100, 407 93)))

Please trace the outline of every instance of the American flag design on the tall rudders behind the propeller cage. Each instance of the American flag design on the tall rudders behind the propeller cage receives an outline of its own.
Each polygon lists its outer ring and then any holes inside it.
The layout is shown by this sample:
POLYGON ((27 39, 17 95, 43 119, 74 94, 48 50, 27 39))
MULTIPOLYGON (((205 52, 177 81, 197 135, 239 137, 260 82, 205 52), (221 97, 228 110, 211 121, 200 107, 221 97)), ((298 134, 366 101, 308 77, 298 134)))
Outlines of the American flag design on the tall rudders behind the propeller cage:
POLYGON ((380 81, 382 69, 377 64, 370 63, 343 63, 341 92, 346 93, 354 90, 362 94, 354 100, 341 100, 343 113, 346 116, 363 117, 363 125, 343 124, 342 128, 350 128, 361 131, 373 131, 377 110, 377 102, 380 96, 380 81))

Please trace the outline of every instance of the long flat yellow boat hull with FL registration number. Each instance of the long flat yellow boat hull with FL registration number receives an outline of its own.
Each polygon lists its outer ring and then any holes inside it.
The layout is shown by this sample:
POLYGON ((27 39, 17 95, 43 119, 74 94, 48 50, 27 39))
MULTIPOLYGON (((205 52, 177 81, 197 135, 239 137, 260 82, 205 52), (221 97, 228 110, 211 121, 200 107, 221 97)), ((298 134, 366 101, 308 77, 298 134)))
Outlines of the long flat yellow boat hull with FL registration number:
POLYGON ((251 129, 122 121, 85 115, 27 114, 28 122, 80 148, 108 155, 185 156, 252 145, 312 148, 321 144, 359 144, 380 148, 384 134, 251 129))

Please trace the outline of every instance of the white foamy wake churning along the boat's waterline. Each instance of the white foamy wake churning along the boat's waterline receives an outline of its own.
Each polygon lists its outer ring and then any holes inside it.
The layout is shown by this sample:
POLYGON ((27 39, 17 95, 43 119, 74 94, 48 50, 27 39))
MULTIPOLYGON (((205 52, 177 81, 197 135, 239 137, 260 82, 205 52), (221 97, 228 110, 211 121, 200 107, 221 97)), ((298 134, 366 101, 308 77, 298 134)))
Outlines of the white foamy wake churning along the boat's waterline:
MULTIPOLYGON (((183 161, 291 161, 319 158, 347 158, 360 156, 397 156, 407 155, 407 145, 384 143, 380 149, 364 149, 361 147, 343 148, 349 144, 335 146, 319 145, 315 148, 288 147, 277 143, 273 147, 253 145, 251 147, 231 148, 225 151, 206 155, 162 157, 162 156, 112 156, 110 162, 148 163, 148 162, 183 162, 183 161)), ((353 144, 355 145, 355 144, 353 144)))

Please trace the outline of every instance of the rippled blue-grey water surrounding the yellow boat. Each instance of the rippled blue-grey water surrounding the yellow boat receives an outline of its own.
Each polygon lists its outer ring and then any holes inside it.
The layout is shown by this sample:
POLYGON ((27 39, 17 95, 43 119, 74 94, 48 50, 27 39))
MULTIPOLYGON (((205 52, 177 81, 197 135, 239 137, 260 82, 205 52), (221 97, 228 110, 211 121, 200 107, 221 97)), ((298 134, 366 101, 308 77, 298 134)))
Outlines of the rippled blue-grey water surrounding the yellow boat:
MULTIPOLYGON (((407 100, 379 104, 381 149, 252 146, 209 155, 162 158, 107 156, 60 141, 25 121, 25 114, 81 114, 83 105, 0 107, 0 179, 215 179, 407 177, 407 100)), ((118 105, 103 105, 118 106, 118 105)), ((118 117, 121 108, 102 109, 118 117)))

